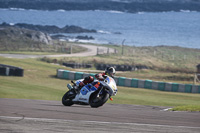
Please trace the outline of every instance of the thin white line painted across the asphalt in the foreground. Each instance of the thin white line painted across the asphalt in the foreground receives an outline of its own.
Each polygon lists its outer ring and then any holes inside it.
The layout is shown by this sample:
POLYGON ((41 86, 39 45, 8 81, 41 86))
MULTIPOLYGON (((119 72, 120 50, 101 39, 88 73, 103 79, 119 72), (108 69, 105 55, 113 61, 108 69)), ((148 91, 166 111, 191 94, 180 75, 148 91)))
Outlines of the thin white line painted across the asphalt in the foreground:
POLYGON ((135 125, 135 126, 152 126, 152 127, 178 127, 178 128, 191 128, 200 129, 200 127, 190 126, 171 126, 171 125, 156 125, 156 124, 142 124, 142 123, 123 123, 123 122, 103 122, 103 121, 84 121, 84 120, 63 120, 63 119, 49 119, 49 118, 30 118, 30 117, 11 117, 11 116, 0 116, 0 119, 17 119, 17 120, 37 120, 46 122, 82 122, 82 123, 96 123, 96 124, 124 124, 124 125, 135 125))

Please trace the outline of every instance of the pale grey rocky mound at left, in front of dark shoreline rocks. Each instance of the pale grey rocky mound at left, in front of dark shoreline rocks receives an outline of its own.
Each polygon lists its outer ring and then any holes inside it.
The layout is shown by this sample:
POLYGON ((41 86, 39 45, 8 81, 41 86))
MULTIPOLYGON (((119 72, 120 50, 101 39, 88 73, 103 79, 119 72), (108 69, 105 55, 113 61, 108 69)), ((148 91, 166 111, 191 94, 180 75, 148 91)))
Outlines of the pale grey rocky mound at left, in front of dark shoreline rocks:
POLYGON ((48 34, 16 27, 0 27, 0 50, 20 50, 36 46, 41 49, 41 45, 52 45, 48 34))

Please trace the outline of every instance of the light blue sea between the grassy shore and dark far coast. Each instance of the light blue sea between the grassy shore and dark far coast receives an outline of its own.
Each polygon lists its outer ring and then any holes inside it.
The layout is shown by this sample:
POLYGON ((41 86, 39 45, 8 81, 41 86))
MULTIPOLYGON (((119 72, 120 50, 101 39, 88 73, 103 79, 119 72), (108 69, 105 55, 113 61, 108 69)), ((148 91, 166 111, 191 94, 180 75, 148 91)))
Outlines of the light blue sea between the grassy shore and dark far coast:
POLYGON ((63 34, 68 41, 129 46, 180 46, 200 49, 200 12, 65 11, 0 9, 0 23, 66 25, 95 29, 97 33, 63 34), (76 36, 94 40, 77 40, 76 36))

